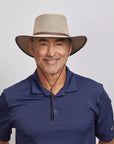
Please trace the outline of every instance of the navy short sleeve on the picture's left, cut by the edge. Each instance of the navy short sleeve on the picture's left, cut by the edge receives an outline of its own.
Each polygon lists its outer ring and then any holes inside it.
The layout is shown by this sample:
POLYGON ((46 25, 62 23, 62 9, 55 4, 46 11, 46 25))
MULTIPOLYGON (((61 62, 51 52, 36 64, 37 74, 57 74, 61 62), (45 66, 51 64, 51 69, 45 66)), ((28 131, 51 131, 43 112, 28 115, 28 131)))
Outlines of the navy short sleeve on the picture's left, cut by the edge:
POLYGON ((7 142, 10 140, 11 121, 10 109, 5 99, 4 93, 0 96, 0 140, 7 142))

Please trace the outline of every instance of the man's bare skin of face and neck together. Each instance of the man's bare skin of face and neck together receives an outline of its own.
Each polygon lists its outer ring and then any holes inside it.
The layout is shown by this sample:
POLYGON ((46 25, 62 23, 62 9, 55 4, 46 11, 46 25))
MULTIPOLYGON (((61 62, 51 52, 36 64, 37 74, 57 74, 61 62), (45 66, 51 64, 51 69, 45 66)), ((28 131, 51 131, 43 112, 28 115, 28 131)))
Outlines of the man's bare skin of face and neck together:
POLYGON ((65 83, 65 65, 71 50, 71 43, 68 43, 65 39, 36 38, 34 41, 31 41, 30 52, 35 58, 40 81, 49 91, 50 88, 53 87, 54 94, 56 94, 65 83), (57 82, 54 85, 56 80, 57 82))

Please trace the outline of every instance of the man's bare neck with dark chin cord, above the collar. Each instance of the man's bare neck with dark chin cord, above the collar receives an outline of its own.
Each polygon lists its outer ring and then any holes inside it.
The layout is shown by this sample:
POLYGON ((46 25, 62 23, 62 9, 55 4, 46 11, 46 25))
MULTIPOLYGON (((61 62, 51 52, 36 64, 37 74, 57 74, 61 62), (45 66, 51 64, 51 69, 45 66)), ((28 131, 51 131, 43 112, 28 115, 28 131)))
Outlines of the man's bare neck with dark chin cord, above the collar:
POLYGON ((37 67, 39 79, 44 88, 50 91, 53 89, 53 93, 57 94, 58 91, 64 86, 66 80, 66 66, 62 67, 55 74, 47 74, 41 68, 37 67))

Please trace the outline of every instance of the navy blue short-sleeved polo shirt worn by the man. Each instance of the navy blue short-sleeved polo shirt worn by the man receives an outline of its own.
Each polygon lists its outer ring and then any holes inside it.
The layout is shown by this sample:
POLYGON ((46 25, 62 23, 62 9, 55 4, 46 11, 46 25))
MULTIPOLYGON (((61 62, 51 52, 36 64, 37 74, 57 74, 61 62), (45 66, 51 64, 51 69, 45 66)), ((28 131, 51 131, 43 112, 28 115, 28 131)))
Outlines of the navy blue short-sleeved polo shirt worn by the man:
POLYGON ((95 137, 114 138, 111 100, 102 84, 67 68, 64 87, 54 95, 51 123, 50 92, 37 71, 7 88, 0 97, 0 140, 9 141, 16 129, 16 144, 95 144, 95 137))

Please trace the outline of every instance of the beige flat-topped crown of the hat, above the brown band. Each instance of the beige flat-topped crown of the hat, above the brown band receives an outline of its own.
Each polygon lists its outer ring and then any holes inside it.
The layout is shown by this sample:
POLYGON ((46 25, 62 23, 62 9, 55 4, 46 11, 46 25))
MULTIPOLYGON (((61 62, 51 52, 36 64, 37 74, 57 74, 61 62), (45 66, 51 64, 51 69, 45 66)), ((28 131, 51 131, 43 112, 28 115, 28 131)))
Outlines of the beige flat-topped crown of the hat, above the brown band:
POLYGON ((60 14, 43 14, 35 19, 33 34, 62 33, 69 35, 67 20, 60 14))

